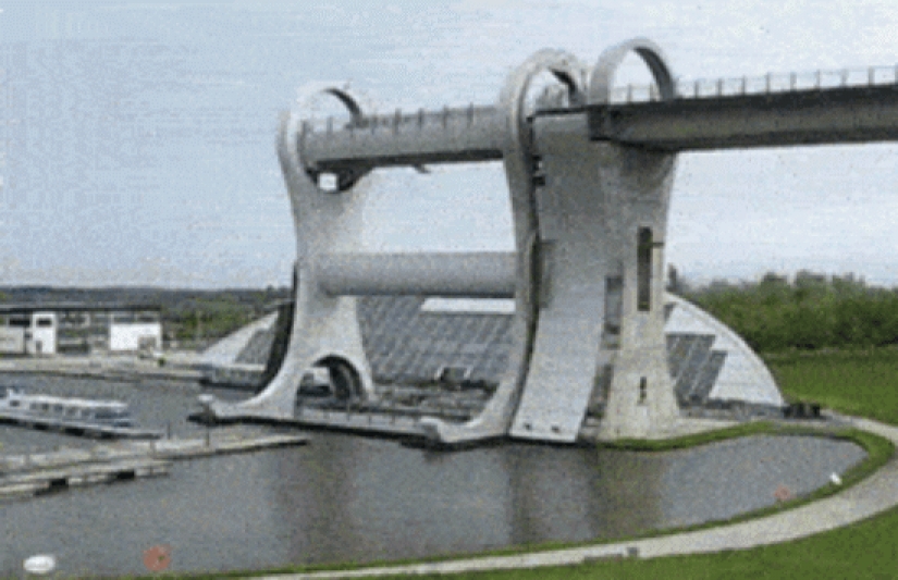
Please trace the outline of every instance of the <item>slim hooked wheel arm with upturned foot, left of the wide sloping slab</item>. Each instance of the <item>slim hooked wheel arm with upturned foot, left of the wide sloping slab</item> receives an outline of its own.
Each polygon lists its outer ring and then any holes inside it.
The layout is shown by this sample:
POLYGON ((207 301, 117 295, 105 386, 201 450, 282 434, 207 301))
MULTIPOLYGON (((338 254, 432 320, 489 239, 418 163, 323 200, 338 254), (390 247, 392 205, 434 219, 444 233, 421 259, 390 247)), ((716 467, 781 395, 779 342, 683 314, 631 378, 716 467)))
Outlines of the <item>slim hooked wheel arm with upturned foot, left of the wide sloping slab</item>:
POLYGON ((512 322, 513 347, 507 369, 483 411, 463 424, 426 417, 420 420, 428 435, 443 444, 457 444, 504 436, 510 428, 520 393, 530 368, 539 317, 540 247, 539 214, 534 199, 534 157, 531 127, 525 116, 527 90, 533 78, 550 72, 570 91, 571 104, 583 100, 583 69, 577 58, 559 50, 534 53, 508 77, 500 94, 499 110, 506 115, 503 148, 505 174, 512 200, 516 252, 515 314, 512 322))

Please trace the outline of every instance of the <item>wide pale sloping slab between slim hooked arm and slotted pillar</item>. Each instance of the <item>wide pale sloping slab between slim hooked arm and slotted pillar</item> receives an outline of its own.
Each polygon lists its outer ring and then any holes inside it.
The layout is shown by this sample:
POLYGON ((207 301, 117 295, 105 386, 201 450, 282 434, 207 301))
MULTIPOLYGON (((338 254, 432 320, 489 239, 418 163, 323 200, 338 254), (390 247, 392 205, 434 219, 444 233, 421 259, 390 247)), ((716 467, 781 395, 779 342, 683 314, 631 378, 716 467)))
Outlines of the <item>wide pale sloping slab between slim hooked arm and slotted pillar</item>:
POLYGON ((537 120, 546 184, 537 189, 541 284, 530 369, 512 424, 515 437, 574 442, 601 367, 607 199, 596 190, 600 162, 586 118, 537 120))

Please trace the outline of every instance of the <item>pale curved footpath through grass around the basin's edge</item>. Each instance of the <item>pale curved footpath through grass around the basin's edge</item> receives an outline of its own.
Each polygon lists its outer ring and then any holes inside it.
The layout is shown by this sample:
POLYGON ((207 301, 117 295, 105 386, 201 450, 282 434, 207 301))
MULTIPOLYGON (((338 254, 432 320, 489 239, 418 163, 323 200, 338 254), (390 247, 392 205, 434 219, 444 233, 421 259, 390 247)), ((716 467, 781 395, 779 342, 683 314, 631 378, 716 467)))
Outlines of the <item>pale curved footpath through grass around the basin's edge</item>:
MULTIPOLYGON (((869 419, 844 417, 847 423, 891 441, 898 447, 898 428, 869 419)), ((537 568, 540 566, 578 565, 592 559, 626 556, 638 551, 640 558, 681 554, 704 554, 725 550, 746 550, 798 540, 875 516, 898 505, 898 454, 875 473, 838 494, 780 514, 644 540, 581 546, 551 552, 483 556, 403 566, 382 566, 356 570, 278 575, 270 580, 324 578, 367 578, 390 575, 455 573, 480 570, 537 568)))

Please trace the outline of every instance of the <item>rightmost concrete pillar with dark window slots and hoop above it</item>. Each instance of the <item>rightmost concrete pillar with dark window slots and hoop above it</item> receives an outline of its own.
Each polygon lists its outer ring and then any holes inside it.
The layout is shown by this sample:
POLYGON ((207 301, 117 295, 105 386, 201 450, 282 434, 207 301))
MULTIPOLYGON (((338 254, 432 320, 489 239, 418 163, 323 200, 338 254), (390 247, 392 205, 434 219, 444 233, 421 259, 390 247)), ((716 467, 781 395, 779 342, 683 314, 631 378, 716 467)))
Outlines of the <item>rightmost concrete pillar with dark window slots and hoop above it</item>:
MULTIPOLYGON (((590 76, 589 103, 610 101, 617 66, 631 51, 647 63, 663 99, 673 99, 673 74, 661 49, 638 38, 606 50, 590 76)), ((678 408, 664 337, 664 240, 676 156, 598 143, 599 187, 605 196, 605 267, 619 280, 619 336, 603 353, 613 369, 602 421, 606 437, 663 432, 678 408), (614 348, 608 348, 614 343, 614 348)))

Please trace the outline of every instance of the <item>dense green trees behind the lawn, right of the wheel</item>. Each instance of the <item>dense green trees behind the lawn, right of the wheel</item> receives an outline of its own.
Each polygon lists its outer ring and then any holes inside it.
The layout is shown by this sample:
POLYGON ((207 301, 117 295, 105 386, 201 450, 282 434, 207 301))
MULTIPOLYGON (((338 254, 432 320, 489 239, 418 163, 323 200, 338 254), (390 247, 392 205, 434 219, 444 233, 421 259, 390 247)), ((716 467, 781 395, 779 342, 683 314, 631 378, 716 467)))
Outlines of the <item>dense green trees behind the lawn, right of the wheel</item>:
POLYGON ((898 344, 898 288, 869 286, 853 274, 802 270, 789 281, 771 272, 759 282, 715 281, 692 288, 672 268, 668 289, 716 317, 758 351, 898 344))

